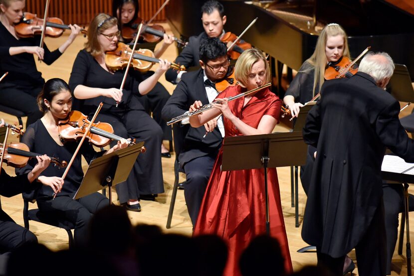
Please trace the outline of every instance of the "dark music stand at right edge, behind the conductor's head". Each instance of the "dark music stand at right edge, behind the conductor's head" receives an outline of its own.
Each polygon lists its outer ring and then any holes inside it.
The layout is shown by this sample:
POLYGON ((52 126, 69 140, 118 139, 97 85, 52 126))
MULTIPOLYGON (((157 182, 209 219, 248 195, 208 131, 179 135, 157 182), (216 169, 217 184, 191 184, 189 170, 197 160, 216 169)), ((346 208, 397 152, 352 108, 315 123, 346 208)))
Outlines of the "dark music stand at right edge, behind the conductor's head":
POLYGON ((407 66, 404 64, 395 64, 395 66, 394 74, 387 85, 387 91, 400 102, 413 103, 414 89, 407 66))

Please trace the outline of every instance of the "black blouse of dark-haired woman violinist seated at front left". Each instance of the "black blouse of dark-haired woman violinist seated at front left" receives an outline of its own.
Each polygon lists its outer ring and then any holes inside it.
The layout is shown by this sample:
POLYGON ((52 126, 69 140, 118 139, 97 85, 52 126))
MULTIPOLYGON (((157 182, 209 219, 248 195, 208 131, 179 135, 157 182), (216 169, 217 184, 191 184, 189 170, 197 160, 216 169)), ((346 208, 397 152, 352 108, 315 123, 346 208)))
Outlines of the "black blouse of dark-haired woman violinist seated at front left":
MULTIPOLYGON (((21 138, 21 142, 28 145, 30 151, 32 152, 47 154, 48 156, 59 158, 60 161, 65 160, 67 162, 70 161, 76 147, 78 146, 77 142, 66 142, 63 145, 57 144, 47 132, 40 119, 28 126, 26 132, 21 138)), ((81 153, 85 157, 86 161, 90 163, 90 161, 94 158, 102 156, 104 151, 96 152, 92 145, 90 145, 87 141, 84 141, 79 153, 81 153)), ((65 182, 63 184, 62 191, 58 193, 57 196, 73 197, 75 192, 78 190, 83 179, 81 154, 76 155, 76 158, 64 179, 65 182)), ((30 159, 25 167, 16 169, 16 174, 24 174, 29 172, 36 163, 37 159, 30 159)), ((57 166, 53 166, 51 164, 41 173, 41 175, 61 177, 64 171, 65 168, 58 168, 57 166)), ((52 196, 53 190, 49 186, 42 185, 37 190, 37 198, 50 198, 52 196)))

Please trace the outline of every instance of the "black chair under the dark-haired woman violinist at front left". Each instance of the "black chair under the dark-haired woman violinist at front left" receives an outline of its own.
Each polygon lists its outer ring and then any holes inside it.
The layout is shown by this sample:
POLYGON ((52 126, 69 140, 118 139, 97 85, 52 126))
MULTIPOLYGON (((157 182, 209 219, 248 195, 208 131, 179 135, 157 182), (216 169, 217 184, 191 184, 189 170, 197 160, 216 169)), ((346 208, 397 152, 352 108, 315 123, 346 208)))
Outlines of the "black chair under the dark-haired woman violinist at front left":
POLYGON ((58 218, 56 216, 41 212, 39 209, 29 210, 29 202, 35 203, 36 200, 31 197, 32 194, 23 193, 23 221, 24 228, 29 229, 29 220, 41 222, 54 227, 59 227, 66 230, 69 238, 69 249, 73 247, 73 235, 72 231, 75 229, 75 225, 67 220, 58 218))

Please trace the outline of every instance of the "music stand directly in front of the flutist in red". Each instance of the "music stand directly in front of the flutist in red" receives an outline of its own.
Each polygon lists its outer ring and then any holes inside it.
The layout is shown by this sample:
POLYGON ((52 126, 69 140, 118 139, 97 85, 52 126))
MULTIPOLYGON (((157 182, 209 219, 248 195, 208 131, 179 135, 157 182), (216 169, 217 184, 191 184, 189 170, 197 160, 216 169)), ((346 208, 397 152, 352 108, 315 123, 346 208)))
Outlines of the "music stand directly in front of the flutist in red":
POLYGON ((270 234, 267 168, 303 165, 306 149, 302 132, 224 138, 221 170, 264 169, 267 234, 270 234))

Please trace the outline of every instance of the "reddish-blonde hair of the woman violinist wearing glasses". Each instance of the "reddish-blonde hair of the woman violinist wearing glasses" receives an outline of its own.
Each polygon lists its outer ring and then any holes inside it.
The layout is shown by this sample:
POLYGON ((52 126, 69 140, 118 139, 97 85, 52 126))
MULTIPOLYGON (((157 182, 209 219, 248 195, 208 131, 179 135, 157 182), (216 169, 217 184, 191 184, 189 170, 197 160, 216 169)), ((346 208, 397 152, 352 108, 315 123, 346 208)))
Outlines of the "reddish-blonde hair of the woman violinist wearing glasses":
POLYGON ((102 48, 98 41, 98 34, 101 34, 104 30, 112 28, 118 25, 118 19, 106 13, 99 13, 96 15, 88 28, 88 41, 85 42, 85 49, 93 57, 101 55, 102 48))

